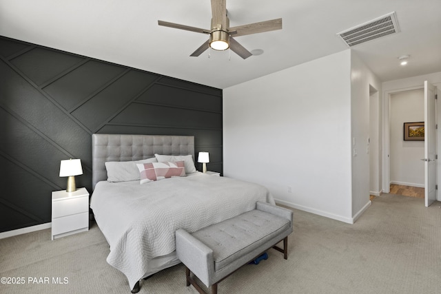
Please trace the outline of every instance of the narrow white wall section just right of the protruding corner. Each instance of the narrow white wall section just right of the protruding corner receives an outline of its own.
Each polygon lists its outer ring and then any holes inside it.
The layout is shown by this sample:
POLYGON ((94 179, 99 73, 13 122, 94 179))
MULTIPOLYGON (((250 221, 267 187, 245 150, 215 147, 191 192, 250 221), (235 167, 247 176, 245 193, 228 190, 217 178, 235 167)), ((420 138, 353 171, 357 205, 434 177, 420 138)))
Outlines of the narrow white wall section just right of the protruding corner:
MULTIPOLYGON (((371 93, 381 92, 380 80, 369 70, 358 57, 356 52, 351 52, 351 143, 352 143, 352 217, 356 220, 371 204, 370 191, 370 99, 378 99, 379 96, 371 97, 371 93)), ((376 101, 377 102, 377 101, 376 101)), ((378 102, 376 104, 379 104, 378 102)), ((373 118, 379 119, 378 110, 371 109, 373 118), (375 114, 375 112, 377 112, 375 114)), ((373 122, 378 126, 379 121, 373 122)), ((376 140, 373 147, 378 145, 380 134, 374 132, 376 140)), ((378 164, 379 157, 375 158, 378 164)), ((374 166, 373 168, 376 168, 374 166)), ((377 167, 378 168, 378 167, 377 167)), ((374 173, 375 174, 375 173, 374 173)))

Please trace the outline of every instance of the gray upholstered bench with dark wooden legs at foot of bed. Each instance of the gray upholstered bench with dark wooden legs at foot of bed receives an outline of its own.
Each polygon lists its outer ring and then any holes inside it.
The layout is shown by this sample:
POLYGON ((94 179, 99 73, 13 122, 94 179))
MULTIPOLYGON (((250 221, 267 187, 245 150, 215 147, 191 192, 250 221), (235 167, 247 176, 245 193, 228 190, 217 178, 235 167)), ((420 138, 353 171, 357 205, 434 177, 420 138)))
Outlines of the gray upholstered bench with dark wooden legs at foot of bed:
POLYGON ((218 282, 273 247, 287 259, 293 212, 265 202, 256 209, 194 233, 176 231, 176 253, 185 265, 187 286, 204 293, 191 272, 217 293, 218 282), (276 246, 283 240, 283 249, 276 246))

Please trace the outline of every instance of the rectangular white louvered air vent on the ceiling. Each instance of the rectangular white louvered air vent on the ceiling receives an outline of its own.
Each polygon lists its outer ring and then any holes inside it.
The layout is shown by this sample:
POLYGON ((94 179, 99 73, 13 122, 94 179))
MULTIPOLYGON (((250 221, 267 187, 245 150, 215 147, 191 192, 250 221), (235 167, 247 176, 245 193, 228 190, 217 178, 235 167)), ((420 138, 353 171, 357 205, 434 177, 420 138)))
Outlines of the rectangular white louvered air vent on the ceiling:
POLYGON ((383 15, 367 23, 339 32, 338 36, 349 46, 372 41, 382 36, 400 32, 395 12, 383 15))

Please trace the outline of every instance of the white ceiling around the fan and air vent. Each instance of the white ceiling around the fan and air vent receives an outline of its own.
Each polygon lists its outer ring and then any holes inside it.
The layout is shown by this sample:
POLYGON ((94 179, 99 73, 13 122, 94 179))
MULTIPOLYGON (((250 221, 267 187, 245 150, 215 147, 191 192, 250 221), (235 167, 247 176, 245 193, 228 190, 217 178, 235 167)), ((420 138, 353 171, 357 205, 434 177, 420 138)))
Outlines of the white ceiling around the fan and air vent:
POLYGON ((336 35, 396 12, 400 32, 353 46, 381 81, 441 72, 440 0, 227 0, 231 26, 283 18, 283 29, 238 36, 247 50, 190 57, 209 30, 209 0, 0 0, 0 35, 225 89, 347 50, 336 35), (410 55, 402 67, 398 56, 410 55))

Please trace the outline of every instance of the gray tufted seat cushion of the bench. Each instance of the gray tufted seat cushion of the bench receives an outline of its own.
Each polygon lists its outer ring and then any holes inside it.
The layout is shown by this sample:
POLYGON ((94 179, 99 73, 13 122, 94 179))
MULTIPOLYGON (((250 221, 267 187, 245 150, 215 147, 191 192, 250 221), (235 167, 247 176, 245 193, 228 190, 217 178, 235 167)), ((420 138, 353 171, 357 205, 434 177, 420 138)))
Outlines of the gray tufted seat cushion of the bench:
POLYGON ((275 238, 290 225, 286 218, 252 210, 205 227, 192 235, 213 250, 214 270, 219 271, 275 238))

